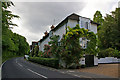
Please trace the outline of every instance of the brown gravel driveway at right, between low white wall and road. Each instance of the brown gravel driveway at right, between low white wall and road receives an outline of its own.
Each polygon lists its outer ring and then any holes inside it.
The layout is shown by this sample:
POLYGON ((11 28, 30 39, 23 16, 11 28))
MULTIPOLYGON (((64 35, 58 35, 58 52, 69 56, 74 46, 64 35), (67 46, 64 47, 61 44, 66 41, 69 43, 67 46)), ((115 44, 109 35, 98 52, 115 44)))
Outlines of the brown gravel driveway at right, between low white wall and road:
POLYGON ((81 68, 79 71, 120 78, 120 64, 99 64, 95 67, 81 68))

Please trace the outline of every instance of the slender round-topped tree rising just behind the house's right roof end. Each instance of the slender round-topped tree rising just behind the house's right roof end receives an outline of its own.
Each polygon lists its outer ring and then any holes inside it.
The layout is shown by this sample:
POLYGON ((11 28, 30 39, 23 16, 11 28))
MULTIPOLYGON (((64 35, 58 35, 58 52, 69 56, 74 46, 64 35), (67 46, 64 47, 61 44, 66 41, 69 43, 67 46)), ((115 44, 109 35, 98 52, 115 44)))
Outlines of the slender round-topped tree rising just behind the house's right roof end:
MULTIPOLYGON (((103 24, 104 19, 100 11, 95 12, 93 21, 101 25, 103 24)), ((97 27, 98 31, 101 29, 101 25, 97 27)))

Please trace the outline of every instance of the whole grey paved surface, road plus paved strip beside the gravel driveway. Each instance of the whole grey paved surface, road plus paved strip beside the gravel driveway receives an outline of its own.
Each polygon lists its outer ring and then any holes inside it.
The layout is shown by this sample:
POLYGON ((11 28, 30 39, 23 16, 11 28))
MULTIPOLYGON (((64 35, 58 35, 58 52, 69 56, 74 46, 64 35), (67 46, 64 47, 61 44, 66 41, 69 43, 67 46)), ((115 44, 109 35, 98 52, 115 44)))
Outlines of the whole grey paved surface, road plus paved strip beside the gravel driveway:
POLYGON ((75 79, 75 80, 119 80, 111 76, 79 72, 69 69, 54 69, 24 60, 23 57, 13 58, 2 65, 2 79, 75 79))

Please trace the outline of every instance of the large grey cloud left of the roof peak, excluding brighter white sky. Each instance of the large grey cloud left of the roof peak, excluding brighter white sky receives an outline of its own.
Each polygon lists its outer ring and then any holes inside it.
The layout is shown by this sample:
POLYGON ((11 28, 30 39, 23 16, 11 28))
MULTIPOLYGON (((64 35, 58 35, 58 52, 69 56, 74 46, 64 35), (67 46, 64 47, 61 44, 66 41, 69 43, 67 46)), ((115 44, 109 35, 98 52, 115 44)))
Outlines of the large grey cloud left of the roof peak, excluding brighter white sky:
POLYGON ((54 19, 55 24, 58 24, 69 14, 80 12, 84 8, 85 3, 22 2, 15 5, 17 13, 21 15, 21 18, 25 19, 23 27, 37 34, 50 30, 49 27, 53 24, 54 19))

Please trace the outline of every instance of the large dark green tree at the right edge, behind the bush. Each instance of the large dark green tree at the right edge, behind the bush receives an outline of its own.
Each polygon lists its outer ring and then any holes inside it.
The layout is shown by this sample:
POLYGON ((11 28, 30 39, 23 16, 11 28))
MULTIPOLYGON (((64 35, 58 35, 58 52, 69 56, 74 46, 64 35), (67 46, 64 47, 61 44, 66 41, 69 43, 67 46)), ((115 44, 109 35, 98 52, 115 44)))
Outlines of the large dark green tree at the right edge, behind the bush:
POLYGON ((107 14, 101 30, 98 32, 101 48, 117 48, 120 50, 120 8, 107 14))

